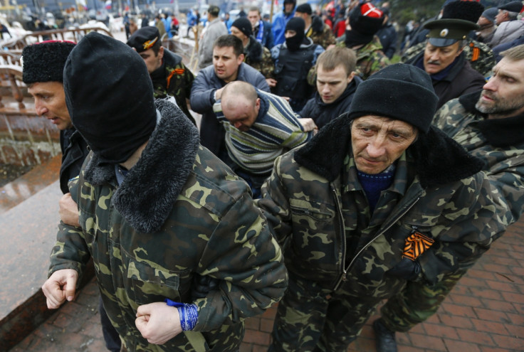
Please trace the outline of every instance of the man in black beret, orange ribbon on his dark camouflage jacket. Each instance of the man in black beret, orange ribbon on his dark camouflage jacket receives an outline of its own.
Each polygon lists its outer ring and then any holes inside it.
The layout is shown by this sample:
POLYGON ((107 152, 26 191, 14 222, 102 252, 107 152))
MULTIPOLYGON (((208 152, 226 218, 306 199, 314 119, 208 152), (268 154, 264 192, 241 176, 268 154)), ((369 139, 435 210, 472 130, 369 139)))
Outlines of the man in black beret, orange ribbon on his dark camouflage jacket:
POLYGON ((127 45, 135 48, 144 59, 147 72, 153 82, 154 97, 174 97, 179 108, 194 124, 189 112, 189 97, 194 75, 182 63, 182 57, 162 46, 162 38, 157 27, 142 27, 127 40, 127 45))

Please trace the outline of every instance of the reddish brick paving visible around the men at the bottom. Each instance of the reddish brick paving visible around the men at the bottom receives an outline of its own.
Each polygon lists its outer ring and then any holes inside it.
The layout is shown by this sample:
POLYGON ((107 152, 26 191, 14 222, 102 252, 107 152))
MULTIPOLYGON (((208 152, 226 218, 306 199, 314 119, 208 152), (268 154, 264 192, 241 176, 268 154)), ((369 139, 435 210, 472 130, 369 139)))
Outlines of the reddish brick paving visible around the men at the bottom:
MULTIPOLYGON (((524 220, 513 225, 455 287, 438 313, 409 334, 399 352, 524 351, 524 220)), ((91 282, 11 352, 105 351, 91 282)), ((276 308, 246 321, 241 352, 266 351, 276 308)), ((375 351, 370 323, 348 352, 375 351)), ((1 348, 0 348, 1 350, 1 348)))

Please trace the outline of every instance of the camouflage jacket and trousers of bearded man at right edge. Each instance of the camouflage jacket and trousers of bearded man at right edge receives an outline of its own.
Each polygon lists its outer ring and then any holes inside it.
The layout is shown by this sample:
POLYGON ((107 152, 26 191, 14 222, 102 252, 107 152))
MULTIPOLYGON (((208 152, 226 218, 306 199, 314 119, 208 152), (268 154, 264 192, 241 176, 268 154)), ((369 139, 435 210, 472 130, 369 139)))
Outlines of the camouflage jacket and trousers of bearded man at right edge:
MULTIPOLYGON (((479 92, 461 97, 473 106, 479 92)), ((516 117, 521 119, 523 117, 516 117)), ((464 146, 474 156, 486 161, 484 172, 501 196, 508 211, 502 213, 501 225, 515 223, 524 211, 524 139, 513 145, 493 146, 482 134, 479 122, 484 117, 473 108, 466 110, 459 99, 451 100, 436 113, 433 124, 464 146)), ((524 126, 523 126, 524 127, 524 126)), ((518 127, 515 127, 518 128, 518 127)), ((519 129, 520 130, 520 129, 519 129)), ((501 131, 504 134, 503 131, 501 131)), ((465 271, 446 275, 431 286, 410 282, 407 288, 390 298, 382 307, 382 319, 392 331, 408 331, 436 313, 441 302, 465 271)))

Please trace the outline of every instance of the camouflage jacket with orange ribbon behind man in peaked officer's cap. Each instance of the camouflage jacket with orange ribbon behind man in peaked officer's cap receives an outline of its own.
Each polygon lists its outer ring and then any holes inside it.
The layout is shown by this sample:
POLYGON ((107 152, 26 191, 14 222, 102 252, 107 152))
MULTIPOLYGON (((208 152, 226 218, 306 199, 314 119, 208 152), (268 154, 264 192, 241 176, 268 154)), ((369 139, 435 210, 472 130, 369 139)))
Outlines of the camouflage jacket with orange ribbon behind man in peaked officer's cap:
MULTIPOLYGON (((423 52, 424 48, 426 48, 426 41, 412 46, 402 55, 402 62, 405 63, 412 60, 416 55, 423 52)), ((466 54, 466 60, 469 61, 473 70, 481 73, 484 77, 491 75, 491 70, 495 66, 496 61, 493 50, 491 50, 488 44, 468 38, 468 45, 464 47, 463 51, 466 54)))

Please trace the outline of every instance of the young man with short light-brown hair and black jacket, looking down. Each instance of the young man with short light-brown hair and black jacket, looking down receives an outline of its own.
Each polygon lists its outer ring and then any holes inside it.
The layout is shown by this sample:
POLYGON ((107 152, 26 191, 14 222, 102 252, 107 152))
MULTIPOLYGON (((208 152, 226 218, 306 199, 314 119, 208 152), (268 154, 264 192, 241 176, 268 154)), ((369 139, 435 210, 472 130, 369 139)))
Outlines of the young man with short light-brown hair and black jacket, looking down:
POLYGON ((318 129, 349 110, 357 85, 357 56, 348 48, 335 47, 320 54, 317 63, 317 92, 308 100, 300 117, 311 118, 318 129))

